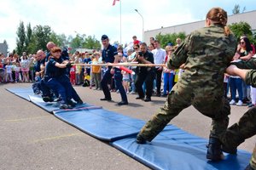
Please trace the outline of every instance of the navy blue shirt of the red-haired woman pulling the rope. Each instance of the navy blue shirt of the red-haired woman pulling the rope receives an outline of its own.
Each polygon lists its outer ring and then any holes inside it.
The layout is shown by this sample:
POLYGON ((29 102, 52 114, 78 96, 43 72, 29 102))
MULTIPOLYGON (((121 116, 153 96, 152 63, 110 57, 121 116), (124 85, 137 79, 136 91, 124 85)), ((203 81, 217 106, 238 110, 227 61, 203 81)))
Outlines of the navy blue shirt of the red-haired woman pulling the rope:
POLYGON ((63 59, 49 59, 49 62, 46 65, 45 69, 45 76, 48 77, 60 77, 62 74, 65 74, 65 69, 61 69, 59 67, 56 67, 56 63, 62 63, 63 59))

